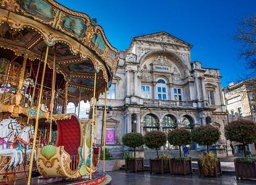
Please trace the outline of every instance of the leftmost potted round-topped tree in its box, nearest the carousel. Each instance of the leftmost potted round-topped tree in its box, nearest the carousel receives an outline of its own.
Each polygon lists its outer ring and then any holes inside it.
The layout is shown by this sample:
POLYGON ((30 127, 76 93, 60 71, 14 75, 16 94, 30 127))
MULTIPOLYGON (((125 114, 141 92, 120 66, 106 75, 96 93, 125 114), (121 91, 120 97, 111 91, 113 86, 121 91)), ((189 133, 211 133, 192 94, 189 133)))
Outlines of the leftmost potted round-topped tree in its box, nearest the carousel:
POLYGON ((127 170, 139 171, 144 170, 144 158, 136 158, 136 147, 144 144, 144 139, 141 133, 127 133, 122 138, 123 144, 133 148, 134 157, 126 155, 125 167, 127 170))

